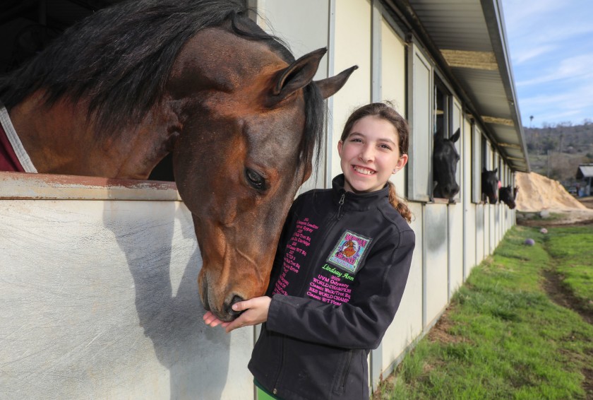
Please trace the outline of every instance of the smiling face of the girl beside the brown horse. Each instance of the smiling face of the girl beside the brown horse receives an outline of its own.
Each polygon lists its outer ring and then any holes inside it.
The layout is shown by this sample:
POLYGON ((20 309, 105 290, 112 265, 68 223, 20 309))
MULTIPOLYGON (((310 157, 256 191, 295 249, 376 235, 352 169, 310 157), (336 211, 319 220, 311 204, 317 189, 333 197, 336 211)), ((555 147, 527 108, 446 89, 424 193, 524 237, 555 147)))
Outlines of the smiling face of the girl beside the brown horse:
POLYGON ((347 192, 383 189, 389 177, 407 163, 400 155, 399 136, 385 119, 367 116, 354 123, 345 141, 337 143, 347 192))

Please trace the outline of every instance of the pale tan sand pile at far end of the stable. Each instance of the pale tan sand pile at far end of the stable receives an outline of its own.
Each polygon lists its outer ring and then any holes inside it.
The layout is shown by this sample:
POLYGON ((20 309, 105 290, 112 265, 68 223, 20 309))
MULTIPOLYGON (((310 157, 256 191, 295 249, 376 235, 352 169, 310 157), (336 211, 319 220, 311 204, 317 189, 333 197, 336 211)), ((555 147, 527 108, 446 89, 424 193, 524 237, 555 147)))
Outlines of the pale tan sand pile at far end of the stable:
POLYGON ((551 180, 535 172, 517 172, 515 186, 517 194, 517 211, 538 212, 586 210, 580 201, 568 193, 556 180, 551 180))

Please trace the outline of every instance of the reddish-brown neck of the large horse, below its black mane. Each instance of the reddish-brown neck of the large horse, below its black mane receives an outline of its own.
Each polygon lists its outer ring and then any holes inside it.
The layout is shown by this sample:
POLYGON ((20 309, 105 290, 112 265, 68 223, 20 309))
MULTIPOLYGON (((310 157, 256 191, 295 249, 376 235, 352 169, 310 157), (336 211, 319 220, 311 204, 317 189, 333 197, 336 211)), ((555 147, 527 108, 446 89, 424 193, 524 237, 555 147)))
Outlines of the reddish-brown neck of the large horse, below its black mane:
POLYGON ((37 172, 146 179, 158 162, 148 160, 154 158, 155 146, 154 140, 141 135, 145 127, 121 129, 109 139, 97 140, 84 102, 60 100, 48 108, 35 93, 10 114, 37 172))

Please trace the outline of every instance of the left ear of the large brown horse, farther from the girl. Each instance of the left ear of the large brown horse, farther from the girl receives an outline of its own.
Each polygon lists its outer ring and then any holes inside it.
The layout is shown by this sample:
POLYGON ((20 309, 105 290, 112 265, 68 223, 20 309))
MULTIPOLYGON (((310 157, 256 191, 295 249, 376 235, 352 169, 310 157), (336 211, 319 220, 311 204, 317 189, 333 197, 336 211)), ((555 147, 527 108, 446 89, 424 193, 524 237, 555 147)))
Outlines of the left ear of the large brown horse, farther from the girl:
POLYGON ((284 100, 296 90, 309 85, 317 72, 321 57, 327 51, 325 47, 317 49, 282 69, 272 83, 272 104, 284 100))

